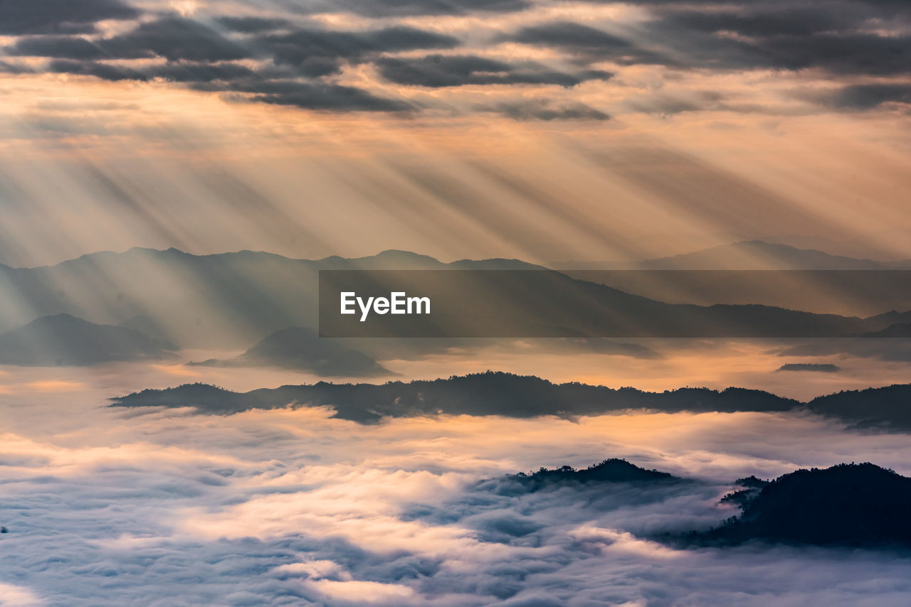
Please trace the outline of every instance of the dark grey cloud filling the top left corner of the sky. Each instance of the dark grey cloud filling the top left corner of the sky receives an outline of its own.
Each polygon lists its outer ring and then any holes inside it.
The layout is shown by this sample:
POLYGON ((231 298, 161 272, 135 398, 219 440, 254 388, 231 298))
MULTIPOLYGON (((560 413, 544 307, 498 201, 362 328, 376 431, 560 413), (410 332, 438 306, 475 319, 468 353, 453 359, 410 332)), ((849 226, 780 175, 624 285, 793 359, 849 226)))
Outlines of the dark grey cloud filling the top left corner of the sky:
POLYGON ((118 0, 0 0, 0 34, 87 33, 97 21, 138 16, 118 0))

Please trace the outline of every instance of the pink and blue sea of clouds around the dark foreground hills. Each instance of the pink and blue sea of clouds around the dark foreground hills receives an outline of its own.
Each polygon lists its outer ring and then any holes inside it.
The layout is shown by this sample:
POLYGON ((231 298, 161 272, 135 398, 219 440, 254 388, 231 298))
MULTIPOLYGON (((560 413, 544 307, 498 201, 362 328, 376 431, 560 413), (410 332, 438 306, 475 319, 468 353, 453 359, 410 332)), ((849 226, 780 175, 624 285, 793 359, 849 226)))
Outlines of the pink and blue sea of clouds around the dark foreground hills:
MULTIPOLYGON (((81 395, 80 395, 81 394, 81 395)), ((906 605, 895 553, 679 550, 736 514, 732 481, 870 460, 901 434, 794 414, 449 417, 122 410, 0 398, 3 605, 906 605), (695 480, 499 491, 503 474, 623 457, 695 480)))

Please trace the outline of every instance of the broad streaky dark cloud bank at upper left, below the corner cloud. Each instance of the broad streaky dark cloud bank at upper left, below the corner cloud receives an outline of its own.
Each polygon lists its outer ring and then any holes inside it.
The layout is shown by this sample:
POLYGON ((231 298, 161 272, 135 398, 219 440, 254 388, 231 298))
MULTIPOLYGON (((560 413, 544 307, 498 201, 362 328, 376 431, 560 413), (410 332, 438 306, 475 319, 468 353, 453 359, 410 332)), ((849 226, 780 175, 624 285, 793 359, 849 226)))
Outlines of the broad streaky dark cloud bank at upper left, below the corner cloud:
MULTIPOLYGON (((453 36, 404 26, 365 32, 298 29, 269 34, 268 30, 284 26, 285 22, 242 18, 222 20, 222 25, 261 34, 251 40, 250 46, 244 46, 208 25, 169 16, 110 38, 28 36, 6 50, 16 56, 51 57, 46 65, 50 73, 108 81, 164 79, 201 91, 232 93, 235 95, 230 98, 236 100, 245 94, 246 100, 308 109, 404 112, 415 106, 353 86, 313 79, 339 72, 346 61, 362 62, 385 52, 451 48, 459 44, 453 36), (159 58, 167 63, 114 65, 104 61, 132 58, 159 58), (264 59, 268 63, 253 70, 235 63, 239 59, 264 59)), ((12 70, 9 66, 4 71, 12 70)))

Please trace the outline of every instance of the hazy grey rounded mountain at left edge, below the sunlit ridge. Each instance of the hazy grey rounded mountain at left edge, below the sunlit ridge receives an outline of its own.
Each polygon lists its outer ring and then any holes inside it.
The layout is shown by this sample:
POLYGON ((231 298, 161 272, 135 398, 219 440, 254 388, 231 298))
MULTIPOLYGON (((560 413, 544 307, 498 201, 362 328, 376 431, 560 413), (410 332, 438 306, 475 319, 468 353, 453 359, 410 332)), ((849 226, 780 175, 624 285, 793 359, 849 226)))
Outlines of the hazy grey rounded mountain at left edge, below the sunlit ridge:
POLYGON ((0 364, 85 366, 114 360, 164 359, 172 356, 170 348, 133 329, 56 314, 0 334, 0 364))

